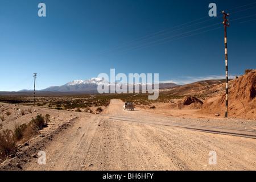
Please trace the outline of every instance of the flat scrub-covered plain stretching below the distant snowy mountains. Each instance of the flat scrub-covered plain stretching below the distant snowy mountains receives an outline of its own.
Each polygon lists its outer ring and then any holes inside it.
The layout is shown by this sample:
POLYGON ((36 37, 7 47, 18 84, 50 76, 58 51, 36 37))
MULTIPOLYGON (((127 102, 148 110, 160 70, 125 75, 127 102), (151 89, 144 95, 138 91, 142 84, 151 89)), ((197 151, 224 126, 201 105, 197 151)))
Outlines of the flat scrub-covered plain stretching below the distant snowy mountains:
MULTIPOLYGON (((36 106, 57 110, 68 111, 85 111, 93 113, 94 111, 101 112, 104 107, 109 105, 112 99, 121 99, 123 102, 134 102, 135 105, 150 105, 154 102, 170 103, 174 99, 180 99, 184 96, 168 95, 159 93, 157 100, 148 100, 148 93, 124 93, 124 94, 96 94, 95 98, 91 95, 78 96, 43 96, 36 98, 36 106)), ((33 98, 28 96, 0 96, 0 102, 9 104, 32 106, 33 98)), ((21 110, 24 113, 24 110, 21 110)))

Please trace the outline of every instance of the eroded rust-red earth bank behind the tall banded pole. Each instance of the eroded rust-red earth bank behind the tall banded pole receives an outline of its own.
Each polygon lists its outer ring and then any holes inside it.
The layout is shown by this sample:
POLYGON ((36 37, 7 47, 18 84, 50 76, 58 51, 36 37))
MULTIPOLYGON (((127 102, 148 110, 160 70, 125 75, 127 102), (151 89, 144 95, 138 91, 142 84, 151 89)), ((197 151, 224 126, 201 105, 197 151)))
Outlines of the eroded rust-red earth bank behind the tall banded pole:
MULTIPOLYGON (((238 77, 233 81, 229 89, 228 116, 256 119, 256 72, 255 70, 247 75, 238 77)), ((225 115, 226 96, 219 93, 204 101, 203 109, 205 114, 225 115)))

